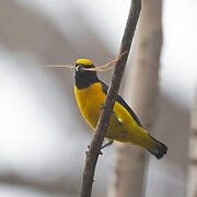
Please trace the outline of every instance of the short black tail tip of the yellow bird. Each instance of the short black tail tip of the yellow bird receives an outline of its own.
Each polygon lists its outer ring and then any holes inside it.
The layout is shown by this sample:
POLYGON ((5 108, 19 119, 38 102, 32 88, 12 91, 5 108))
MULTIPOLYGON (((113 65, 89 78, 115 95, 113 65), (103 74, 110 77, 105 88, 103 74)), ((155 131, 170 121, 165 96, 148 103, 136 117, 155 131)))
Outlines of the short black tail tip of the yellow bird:
MULTIPOLYGON (((150 136, 150 135, 149 135, 150 136)), ((158 159, 161 159, 163 158, 164 154, 166 154, 166 151, 167 151, 167 147, 158 141, 157 139, 154 139, 152 136, 150 136, 150 138, 152 138, 154 140, 154 144, 153 148, 149 148, 147 149, 151 154, 153 154, 154 157, 157 157, 158 159)))

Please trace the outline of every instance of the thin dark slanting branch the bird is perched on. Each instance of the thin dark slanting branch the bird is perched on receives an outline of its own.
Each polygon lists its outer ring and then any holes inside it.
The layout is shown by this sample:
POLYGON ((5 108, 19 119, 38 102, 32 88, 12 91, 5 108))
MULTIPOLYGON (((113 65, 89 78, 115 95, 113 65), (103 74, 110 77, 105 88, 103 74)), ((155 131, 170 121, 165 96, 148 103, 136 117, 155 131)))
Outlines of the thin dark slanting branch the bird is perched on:
POLYGON ((105 137, 105 132, 108 127, 109 118, 112 115, 112 111, 114 107, 114 103, 119 90, 120 81, 123 78, 123 73, 126 67, 127 58, 129 55, 132 37, 135 34, 136 25, 139 19, 139 14, 141 11, 141 0, 131 0, 131 7, 129 11, 129 16, 127 20, 124 37, 121 40, 120 51, 123 54, 127 51, 123 58, 120 58, 115 67, 114 76, 112 79, 112 83, 109 86, 108 95, 106 97, 104 107, 102 109, 96 131, 91 141, 90 150, 86 155, 85 166, 83 170, 83 178, 82 178, 82 187, 81 187, 81 197, 90 197, 92 193, 92 185, 94 178, 95 166, 97 162, 97 158, 100 154, 100 150, 105 137))

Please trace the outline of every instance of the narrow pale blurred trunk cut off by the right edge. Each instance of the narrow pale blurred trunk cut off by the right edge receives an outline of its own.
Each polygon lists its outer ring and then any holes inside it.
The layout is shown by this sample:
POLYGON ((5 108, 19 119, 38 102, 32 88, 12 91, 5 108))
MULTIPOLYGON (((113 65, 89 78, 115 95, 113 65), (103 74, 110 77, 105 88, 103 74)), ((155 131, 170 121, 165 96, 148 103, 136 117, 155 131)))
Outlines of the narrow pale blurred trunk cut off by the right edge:
POLYGON ((190 127, 187 197, 197 197, 197 91, 192 112, 190 127))

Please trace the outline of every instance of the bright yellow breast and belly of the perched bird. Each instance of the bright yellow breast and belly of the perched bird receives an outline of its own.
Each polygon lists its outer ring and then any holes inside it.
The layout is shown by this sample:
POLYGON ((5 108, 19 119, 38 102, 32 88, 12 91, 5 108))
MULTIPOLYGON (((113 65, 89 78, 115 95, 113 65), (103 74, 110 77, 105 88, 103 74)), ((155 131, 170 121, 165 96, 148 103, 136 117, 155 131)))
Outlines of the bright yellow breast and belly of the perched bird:
MULTIPOLYGON (((102 84, 93 83, 89 88, 81 90, 74 86, 74 92, 81 114, 91 127, 95 129, 101 114, 101 106, 104 104, 106 96, 102 84)), ((112 115, 105 137, 121 142, 130 141, 136 144, 139 144, 139 141, 144 141, 143 138, 147 138, 147 131, 139 127, 129 112, 118 102, 115 102, 114 113, 123 124, 119 124, 112 115)))

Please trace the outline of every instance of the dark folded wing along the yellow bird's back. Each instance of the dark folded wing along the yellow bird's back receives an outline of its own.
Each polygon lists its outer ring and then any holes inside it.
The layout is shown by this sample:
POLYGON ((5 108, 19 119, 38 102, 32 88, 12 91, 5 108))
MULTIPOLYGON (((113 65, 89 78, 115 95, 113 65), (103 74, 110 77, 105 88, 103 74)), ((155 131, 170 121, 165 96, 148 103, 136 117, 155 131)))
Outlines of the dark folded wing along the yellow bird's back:
MULTIPOLYGON (((102 86, 103 86, 103 92, 104 92, 105 94, 107 94, 108 86, 107 86, 104 82, 102 82, 102 81, 101 81, 101 83, 102 83, 102 86)), ((136 123, 137 123, 140 127, 142 127, 141 124, 140 124, 140 120, 139 120, 139 118, 138 118, 138 116, 137 116, 137 115, 135 114, 135 112, 129 107, 129 105, 127 105, 127 103, 124 101, 124 99, 123 99, 121 96, 117 95, 116 101, 117 101, 119 104, 121 104, 121 105, 130 113, 130 115, 131 115, 132 118, 136 120, 136 123)))

